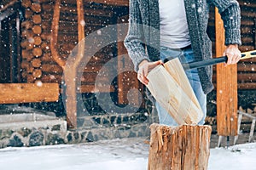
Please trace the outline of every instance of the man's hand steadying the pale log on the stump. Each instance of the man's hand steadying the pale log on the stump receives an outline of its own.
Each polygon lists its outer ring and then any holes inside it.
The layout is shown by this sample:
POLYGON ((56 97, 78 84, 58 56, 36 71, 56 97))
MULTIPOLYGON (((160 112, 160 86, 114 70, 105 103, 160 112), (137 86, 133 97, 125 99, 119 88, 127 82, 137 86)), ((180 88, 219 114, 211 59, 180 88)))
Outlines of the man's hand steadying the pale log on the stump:
POLYGON ((157 65, 163 65, 162 60, 149 62, 148 60, 143 60, 140 65, 138 65, 137 79, 144 85, 148 85, 148 72, 154 69, 157 65))

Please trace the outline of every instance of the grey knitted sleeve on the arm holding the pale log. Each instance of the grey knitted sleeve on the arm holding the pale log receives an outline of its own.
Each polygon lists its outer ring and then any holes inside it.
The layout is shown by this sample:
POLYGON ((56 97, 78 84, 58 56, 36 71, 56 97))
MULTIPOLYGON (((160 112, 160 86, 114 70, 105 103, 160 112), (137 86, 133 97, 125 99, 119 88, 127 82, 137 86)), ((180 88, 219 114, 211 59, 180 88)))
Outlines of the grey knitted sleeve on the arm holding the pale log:
POLYGON ((146 54, 143 21, 137 0, 130 0, 129 30, 125 37, 125 48, 134 64, 135 71, 143 60, 149 60, 146 54))

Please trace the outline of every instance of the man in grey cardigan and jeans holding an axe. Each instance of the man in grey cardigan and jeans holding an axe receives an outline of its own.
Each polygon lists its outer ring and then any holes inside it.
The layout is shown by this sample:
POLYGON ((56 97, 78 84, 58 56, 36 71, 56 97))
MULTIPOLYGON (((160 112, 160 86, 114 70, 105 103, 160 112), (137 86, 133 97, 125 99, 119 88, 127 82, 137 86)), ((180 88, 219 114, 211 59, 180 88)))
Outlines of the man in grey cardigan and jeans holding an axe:
MULTIPOLYGON (((241 59, 241 15, 236 0, 130 0, 129 31, 125 47, 140 82, 148 84, 148 72, 172 56, 180 61, 212 58, 212 44, 207 36, 209 5, 218 8, 225 28, 224 55, 227 65, 241 59)), ((201 109, 207 114, 207 94, 212 91, 212 66, 186 71, 201 109)), ((177 125, 156 102, 160 124, 177 125)), ((199 124, 204 123, 205 116, 199 124)))

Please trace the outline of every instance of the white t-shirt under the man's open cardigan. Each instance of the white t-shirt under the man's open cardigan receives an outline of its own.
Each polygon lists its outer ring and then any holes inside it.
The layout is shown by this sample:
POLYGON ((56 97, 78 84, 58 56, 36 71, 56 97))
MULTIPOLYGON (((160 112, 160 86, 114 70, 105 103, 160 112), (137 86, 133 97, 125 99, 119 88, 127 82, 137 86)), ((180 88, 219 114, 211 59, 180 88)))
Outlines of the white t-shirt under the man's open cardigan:
POLYGON ((159 0, 160 46, 184 48, 191 44, 183 0, 159 0))

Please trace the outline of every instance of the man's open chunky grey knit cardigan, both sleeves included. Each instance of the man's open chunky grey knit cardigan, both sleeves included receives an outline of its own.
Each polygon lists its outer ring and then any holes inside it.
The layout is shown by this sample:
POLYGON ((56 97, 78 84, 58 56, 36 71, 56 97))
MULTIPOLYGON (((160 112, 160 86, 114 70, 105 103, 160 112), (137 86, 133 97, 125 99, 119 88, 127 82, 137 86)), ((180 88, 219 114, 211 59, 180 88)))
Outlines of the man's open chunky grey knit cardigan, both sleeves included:
MULTIPOLYGON (((125 48, 135 65, 160 59, 159 0, 130 0, 129 31, 125 48)), ((236 0, 184 0, 191 45, 196 60, 212 58, 212 42, 207 36, 209 5, 218 8, 225 28, 225 44, 241 45, 241 14, 236 0)), ((212 91, 212 66, 198 69, 205 94, 212 91)))

